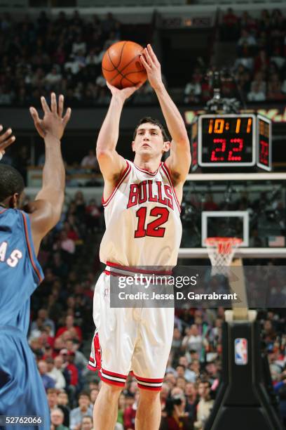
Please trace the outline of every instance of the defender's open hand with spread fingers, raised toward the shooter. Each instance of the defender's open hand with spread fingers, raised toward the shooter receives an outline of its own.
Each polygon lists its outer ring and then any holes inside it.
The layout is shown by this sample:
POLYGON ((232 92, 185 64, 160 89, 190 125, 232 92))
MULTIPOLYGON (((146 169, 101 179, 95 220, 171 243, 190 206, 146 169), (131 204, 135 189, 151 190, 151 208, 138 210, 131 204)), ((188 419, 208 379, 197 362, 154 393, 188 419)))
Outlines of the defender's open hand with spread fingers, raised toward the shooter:
POLYGON ((41 105, 43 107, 43 119, 39 118, 39 114, 34 107, 30 107, 29 111, 34 119, 34 125, 36 131, 42 138, 45 138, 48 134, 54 136, 57 139, 61 139, 64 133, 64 129, 69 122, 71 117, 71 108, 67 109, 66 114, 62 117, 64 110, 64 96, 62 94, 59 97, 57 105, 57 98, 55 93, 50 95, 50 107, 46 102, 46 98, 41 97, 41 105))

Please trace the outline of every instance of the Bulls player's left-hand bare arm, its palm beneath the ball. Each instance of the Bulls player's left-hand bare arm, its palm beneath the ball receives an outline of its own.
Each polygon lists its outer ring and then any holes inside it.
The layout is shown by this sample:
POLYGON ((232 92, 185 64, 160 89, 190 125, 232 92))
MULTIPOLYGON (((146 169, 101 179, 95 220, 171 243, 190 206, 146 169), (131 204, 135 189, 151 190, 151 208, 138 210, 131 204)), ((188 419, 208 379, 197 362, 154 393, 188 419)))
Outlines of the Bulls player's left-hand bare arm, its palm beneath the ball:
MULTIPOLYGON (((118 181, 118 177, 125 169, 125 160, 116 152, 116 145, 119 135, 119 122, 123 104, 129 98, 138 86, 130 86, 125 89, 117 89, 107 82, 112 97, 109 105, 107 116, 104 119, 100 133, 97 138, 96 156, 100 164, 100 170, 104 178, 104 188, 108 183, 111 187, 118 181)), ((104 194, 108 190, 104 189, 104 194)))

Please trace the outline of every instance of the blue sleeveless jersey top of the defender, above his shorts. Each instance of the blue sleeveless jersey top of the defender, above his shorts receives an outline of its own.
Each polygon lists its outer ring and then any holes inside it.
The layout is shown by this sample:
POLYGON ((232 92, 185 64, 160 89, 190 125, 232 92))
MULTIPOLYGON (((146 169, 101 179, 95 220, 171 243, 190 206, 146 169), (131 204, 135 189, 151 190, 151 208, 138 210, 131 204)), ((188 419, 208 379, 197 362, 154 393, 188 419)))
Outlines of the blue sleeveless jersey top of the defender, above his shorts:
POLYGON ((29 328, 30 297, 43 280, 36 259, 29 216, 0 207, 0 325, 29 328))

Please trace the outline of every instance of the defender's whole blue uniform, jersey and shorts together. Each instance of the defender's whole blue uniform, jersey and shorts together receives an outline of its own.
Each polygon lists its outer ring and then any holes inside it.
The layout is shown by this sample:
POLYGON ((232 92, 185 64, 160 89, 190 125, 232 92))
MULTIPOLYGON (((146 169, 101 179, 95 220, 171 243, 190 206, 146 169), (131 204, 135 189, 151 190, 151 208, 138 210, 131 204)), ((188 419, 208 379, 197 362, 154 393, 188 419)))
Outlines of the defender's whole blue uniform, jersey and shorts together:
POLYGON ((39 426, 25 430, 50 430, 46 392, 27 342, 30 297, 42 279, 29 216, 0 208, 0 415, 40 417, 39 426))

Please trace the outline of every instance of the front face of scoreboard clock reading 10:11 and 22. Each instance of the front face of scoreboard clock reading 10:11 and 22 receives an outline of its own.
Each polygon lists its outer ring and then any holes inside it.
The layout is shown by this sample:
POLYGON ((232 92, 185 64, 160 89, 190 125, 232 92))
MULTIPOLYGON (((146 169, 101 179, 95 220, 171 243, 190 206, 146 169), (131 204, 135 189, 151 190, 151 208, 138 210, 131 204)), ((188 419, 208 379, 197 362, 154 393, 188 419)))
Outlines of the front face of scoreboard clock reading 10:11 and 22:
POLYGON ((200 166, 253 166, 254 115, 201 115, 198 120, 200 166))

